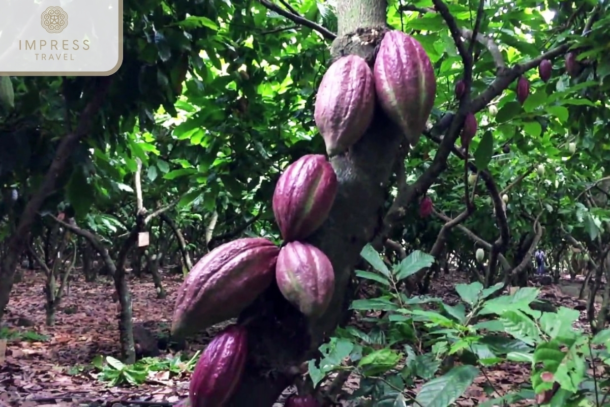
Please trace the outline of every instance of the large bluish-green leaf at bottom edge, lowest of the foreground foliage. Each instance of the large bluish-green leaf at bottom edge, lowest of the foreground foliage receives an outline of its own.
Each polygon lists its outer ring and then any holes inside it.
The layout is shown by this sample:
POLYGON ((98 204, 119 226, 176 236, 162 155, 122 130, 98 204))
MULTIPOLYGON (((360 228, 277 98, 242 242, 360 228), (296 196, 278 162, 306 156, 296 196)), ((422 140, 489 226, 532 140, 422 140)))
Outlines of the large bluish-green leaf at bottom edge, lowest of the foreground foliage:
POLYGON ((445 375, 425 383, 415 401, 422 407, 447 407, 468 389, 479 375, 475 366, 454 367, 445 375))

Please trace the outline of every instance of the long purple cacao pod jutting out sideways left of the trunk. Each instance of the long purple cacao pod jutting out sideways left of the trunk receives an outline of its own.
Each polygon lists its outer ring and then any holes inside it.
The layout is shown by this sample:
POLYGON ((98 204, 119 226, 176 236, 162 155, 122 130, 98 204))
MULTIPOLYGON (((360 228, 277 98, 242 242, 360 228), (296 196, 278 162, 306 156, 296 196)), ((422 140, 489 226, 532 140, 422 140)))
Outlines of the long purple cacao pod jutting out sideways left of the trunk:
POLYGON ((237 317, 273 283, 278 254, 270 240, 246 237, 203 256, 178 291, 171 334, 181 337, 237 317))

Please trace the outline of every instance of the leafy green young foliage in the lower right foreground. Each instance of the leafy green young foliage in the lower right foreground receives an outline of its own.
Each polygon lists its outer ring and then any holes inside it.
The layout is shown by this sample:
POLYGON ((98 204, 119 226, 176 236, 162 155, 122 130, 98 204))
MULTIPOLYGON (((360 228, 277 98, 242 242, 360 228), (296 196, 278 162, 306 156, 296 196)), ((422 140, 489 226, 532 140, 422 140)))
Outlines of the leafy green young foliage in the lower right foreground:
POLYGON ((549 406, 610 405, 610 329, 595 335, 576 328, 580 312, 531 308, 539 289, 522 287, 502 294, 503 284, 456 284, 459 302, 447 304, 426 295, 407 297, 397 290, 407 276, 433 259, 414 251, 389 268, 370 246, 362 251, 374 272, 360 278, 379 283, 379 297, 356 300, 351 308, 370 315, 338 329, 320 347, 322 358, 309 361, 317 386, 330 373, 359 378, 351 395, 362 406, 451 406, 483 375, 489 400, 481 406, 513 405, 535 399, 549 406), (489 381, 486 370, 510 362, 531 369, 531 381, 510 391, 489 381), (415 386, 418 386, 416 389, 415 386))

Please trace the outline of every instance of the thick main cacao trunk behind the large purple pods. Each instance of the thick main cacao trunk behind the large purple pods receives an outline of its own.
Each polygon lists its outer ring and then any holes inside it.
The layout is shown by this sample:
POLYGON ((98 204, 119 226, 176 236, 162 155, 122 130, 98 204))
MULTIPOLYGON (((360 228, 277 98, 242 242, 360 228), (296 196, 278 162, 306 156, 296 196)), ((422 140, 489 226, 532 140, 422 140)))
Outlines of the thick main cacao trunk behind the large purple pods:
MULTIPOLYGON (((375 46, 386 27, 384 0, 340 0, 339 32, 331 48, 332 60, 357 54, 373 60, 375 46), (356 35, 357 29, 364 32, 356 35), (376 32, 371 31, 375 29, 376 32), (363 45, 362 34, 375 40, 363 45)), ((331 61, 332 62, 332 61, 331 61)), ((332 262, 336 287, 328 311, 317 321, 307 321, 290 307, 276 286, 242 312, 248 328, 248 361, 231 407, 270 407, 294 380, 289 370, 315 356, 318 346, 333 333, 351 298, 348 291, 353 267, 364 245, 381 228, 382 204, 398 148, 400 131, 379 110, 367 134, 342 156, 331 159, 339 192, 325 224, 307 239, 332 262)))

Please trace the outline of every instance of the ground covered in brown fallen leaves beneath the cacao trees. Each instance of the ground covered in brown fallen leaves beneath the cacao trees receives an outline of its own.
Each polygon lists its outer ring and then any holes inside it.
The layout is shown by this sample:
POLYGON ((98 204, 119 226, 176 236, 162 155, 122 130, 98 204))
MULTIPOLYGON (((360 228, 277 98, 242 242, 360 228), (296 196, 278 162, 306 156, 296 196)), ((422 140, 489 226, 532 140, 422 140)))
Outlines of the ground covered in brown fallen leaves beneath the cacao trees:
MULTIPOLYGON (((434 281, 430 294, 454 303, 458 297, 453 287, 460 282, 464 282, 460 273, 443 275, 434 281)), ((149 278, 131 279, 134 323, 167 335, 180 283, 181 276, 163 276, 168 296, 159 300, 149 278)), ((43 273, 26 271, 11 294, 0 328, 0 338, 8 336, 7 340, 0 339, 0 407, 171 406, 187 396, 188 373, 170 376, 168 372, 151 372, 146 383, 137 387, 109 387, 98 380, 99 371, 91 366, 93 359, 98 355, 119 356, 118 309, 111 299, 114 287, 110 280, 73 282, 51 327, 45 326, 43 287, 43 273)), ((583 308, 582 301, 558 286, 542 287, 541 298, 556 305, 583 308)), ((360 325, 356 319, 352 323, 360 325)), ((588 329, 585 311, 581 311, 579 325, 588 329)), ((189 341, 188 355, 203 349, 217 331, 210 329, 199 340, 189 341)), ((498 391, 508 391, 529 380, 529 369, 514 362, 488 368, 486 377, 477 378, 457 405, 473 406, 485 400, 487 380, 498 391)), ((345 387, 357 387, 357 378, 350 378, 345 387)))

